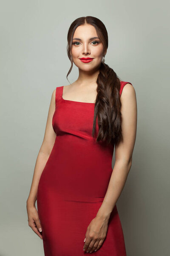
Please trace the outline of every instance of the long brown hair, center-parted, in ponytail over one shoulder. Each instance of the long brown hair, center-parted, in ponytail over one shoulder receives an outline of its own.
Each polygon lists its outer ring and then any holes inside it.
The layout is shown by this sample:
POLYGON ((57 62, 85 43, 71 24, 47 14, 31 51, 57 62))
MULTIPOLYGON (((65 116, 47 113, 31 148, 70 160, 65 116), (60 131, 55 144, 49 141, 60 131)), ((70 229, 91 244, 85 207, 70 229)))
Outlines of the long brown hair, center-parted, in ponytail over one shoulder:
MULTIPOLYGON (((101 20, 92 16, 79 17, 74 20, 71 23, 67 35, 67 54, 71 61, 71 68, 68 71, 67 77, 73 67, 71 47, 74 32, 78 26, 86 23, 95 27, 96 33, 104 46, 103 52, 108 49, 108 32, 101 20)), ((114 70, 102 61, 99 67, 99 75, 97 77, 96 83, 97 96, 94 107, 92 136, 94 137, 95 134, 97 117, 99 133, 96 137, 96 142, 102 141, 107 145, 110 143, 118 144, 123 139, 121 128, 122 117, 120 112, 121 101, 119 96, 120 80, 114 70)))

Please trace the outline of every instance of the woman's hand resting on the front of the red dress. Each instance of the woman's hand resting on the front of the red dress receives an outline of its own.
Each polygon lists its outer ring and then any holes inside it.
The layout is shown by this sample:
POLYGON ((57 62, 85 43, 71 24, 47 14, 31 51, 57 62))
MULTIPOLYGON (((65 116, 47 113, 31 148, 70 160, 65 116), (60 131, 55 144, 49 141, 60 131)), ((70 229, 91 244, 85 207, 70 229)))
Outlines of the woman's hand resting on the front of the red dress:
POLYGON ((108 220, 96 216, 88 225, 83 250, 86 250, 86 253, 98 250, 105 240, 107 230, 108 220))

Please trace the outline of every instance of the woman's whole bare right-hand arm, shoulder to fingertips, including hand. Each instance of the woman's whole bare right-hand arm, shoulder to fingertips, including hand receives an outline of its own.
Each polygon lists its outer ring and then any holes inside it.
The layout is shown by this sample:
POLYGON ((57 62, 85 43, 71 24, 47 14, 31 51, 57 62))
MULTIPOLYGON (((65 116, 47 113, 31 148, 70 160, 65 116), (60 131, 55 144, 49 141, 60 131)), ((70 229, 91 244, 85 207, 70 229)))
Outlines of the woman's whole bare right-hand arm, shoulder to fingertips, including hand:
POLYGON ((123 141, 119 145, 115 145, 115 164, 108 189, 96 218, 91 221, 86 232, 83 247, 86 252, 98 250, 101 247, 107 233, 111 212, 125 186, 132 165, 137 128, 137 103, 136 92, 131 84, 125 84, 120 99, 123 141))

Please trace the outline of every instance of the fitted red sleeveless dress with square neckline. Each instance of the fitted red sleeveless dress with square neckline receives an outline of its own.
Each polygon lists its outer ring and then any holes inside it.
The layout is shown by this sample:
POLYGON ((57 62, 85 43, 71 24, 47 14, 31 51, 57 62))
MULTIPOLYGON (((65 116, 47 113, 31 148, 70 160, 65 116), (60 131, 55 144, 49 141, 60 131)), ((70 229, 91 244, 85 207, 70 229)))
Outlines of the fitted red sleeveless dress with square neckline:
MULTIPOLYGON (((127 83, 121 81, 120 95, 127 83)), ((38 184, 37 210, 45 256, 81 256, 87 227, 108 189, 114 145, 96 143, 91 135, 95 104, 65 100, 62 91, 63 86, 56 88, 52 126, 57 136, 38 184)), ((126 256, 116 205, 106 238, 93 253, 126 256)))

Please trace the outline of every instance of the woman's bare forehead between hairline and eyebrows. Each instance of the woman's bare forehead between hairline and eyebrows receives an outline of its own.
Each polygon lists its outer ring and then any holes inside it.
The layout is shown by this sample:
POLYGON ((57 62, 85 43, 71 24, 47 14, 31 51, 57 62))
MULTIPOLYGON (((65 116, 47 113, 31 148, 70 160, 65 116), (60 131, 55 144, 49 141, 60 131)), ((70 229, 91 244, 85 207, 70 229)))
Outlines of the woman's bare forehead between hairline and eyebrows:
POLYGON ((82 39, 97 37, 96 29, 91 24, 84 24, 84 25, 78 26, 73 35, 73 38, 75 37, 82 38, 82 39))

